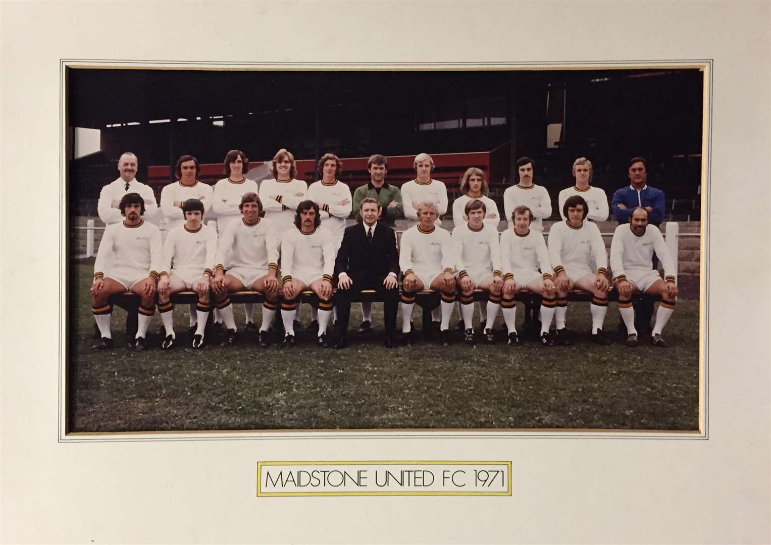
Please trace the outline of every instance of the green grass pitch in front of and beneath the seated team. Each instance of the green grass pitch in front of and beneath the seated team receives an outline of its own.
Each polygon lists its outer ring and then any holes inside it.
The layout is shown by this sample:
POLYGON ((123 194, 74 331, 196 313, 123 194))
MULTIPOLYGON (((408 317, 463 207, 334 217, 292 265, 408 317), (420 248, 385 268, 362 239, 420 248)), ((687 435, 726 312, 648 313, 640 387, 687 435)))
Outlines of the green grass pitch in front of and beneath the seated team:
MULTIPOLYGON (((355 331, 345 350, 315 348, 308 333, 289 351, 207 347, 202 351, 123 348, 125 312, 113 313, 116 348, 97 352, 88 288, 92 267, 70 269, 68 384, 72 432, 202 429, 698 429, 699 301, 678 301, 665 328, 671 348, 601 347, 580 341, 541 348, 449 347, 419 342, 388 350, 382 332, 355 331)), ((237 324, 243 305, 235 305, 237 324)), ((259 310, 255 313, 259 324, 259 310)), ((307 325, 310 312, 302 309, 307 325)), ((174 312, 187 347, 187 305, 174 312)), ((521 323, 524 306, 519 304, 521 323)), ((413 321, 419 324, 416 309, 413 321)), ((361 321, 352 306, 351 328, 361 321)), ((572 303, 572 331, 591 323, 572 303)), ((382 305, 373 308, 382 328, 382 305)), ((453 327, 455 318, 453 316, 453 327)), ((614 330, 618 310, 605 322, 614 330)), ((503 318, 498 316, 497 328, 503 318)), ((151 332, 160 328, 156 315, 151 332)), ((621 341, 619 335, 618 340, 621 341)), ((647 339, 644 339, 647 341, 647 339)), ((160 344, 160 338, 156 338, 160 344)))

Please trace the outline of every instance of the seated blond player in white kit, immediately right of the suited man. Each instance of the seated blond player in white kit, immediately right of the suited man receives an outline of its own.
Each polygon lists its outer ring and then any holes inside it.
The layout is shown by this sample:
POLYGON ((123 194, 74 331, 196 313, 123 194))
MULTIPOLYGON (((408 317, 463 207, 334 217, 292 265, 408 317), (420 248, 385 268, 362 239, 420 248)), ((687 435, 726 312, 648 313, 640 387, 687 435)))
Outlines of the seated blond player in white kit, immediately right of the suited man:
POLYGON ((399 249, 399 268, 404 271, 402 284, 402 341, 412 344, 412 308, 415 293, 423 289, 440 291, 442 294, 442 321, 439 325, 443 345, 449 344, 449 318, 455 302, 455 278, 453 277, 453 241, 449 231, 436 227, 436 205, 418 204, 420 223, 402 234, 399 249))

